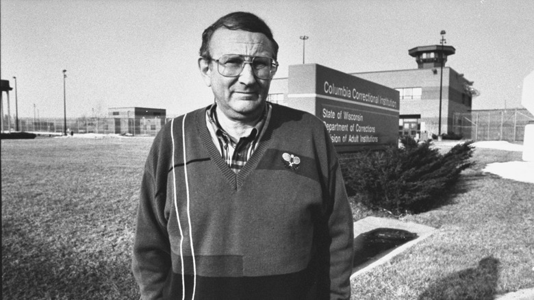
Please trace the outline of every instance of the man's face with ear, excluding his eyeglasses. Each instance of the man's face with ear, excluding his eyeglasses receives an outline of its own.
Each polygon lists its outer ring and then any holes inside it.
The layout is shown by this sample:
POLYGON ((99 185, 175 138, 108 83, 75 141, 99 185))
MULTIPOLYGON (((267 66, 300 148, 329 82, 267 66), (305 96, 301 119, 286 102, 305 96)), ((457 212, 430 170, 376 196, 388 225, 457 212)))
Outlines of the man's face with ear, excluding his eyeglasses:
MULTIPOLYGON (((225 54, 274 57, 270 40, 257 32, 217 29, 209 42, 214 60, 225 54)), ((245 64, 238 77, 225 77, 217 71, 217 62, 199 60, 207 86, 211 86, 218 108, 233 121, 255 121, 262 115, 269 92, 270 79, 254 76, 251 64, 245 64)))

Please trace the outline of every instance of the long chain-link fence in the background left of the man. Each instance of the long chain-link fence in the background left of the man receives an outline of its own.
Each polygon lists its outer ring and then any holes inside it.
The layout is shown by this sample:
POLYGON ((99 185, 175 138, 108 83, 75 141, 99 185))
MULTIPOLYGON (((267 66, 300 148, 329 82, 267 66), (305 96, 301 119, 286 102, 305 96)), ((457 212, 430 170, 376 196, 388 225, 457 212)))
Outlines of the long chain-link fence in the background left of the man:
MULTIPOLYGON (((131 136, 155 136, 170 118, 113 118, 80 117, 66 119, 67 134, 123 134, 131 136)), ((18 131, 42 134, 65 132, 63 118, 19 118, 18 131)), ((15 118, 3 118, 3 129, 15 131, 15 118), (10 123, 10 124, 8 124, 10 123)))

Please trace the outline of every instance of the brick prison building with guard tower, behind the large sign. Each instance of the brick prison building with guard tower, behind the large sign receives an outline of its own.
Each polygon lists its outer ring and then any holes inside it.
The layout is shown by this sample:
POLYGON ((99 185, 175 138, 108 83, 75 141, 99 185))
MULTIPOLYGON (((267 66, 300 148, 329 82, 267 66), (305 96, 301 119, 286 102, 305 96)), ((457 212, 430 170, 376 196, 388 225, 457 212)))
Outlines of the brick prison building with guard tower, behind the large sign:
MULTIPOLYGON (((441 133, 446 134, 453 131, 454 114, 470 112, 472 97, 478 95, 472 81, 445 66, 448 55, 453 55, 455 51, 454 47, 443 45, 415 47, 408 53, 416 58, 418 68, 350 74, 399 91, 399 135, 419 137, 422 132, 438 134, 442 86, 441 133)), ((273 79, 269 100, 284 103, 287 95, 288 78, 273 79)))

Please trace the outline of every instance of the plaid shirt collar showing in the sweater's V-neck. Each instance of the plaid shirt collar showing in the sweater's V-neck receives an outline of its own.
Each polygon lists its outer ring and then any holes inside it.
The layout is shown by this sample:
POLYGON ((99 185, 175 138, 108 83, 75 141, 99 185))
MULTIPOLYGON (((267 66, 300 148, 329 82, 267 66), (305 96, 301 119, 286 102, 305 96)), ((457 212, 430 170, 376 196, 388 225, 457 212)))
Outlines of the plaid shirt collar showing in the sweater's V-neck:
POLYGON ((223 156, 223 159, 226 161, 229 168, 237 174, 249 158, 251 158, 252 153, 254 153, 254 150, 257 147, 257 142, 259 141, 259 138, 261 138, 264 128, 270 119, 271 105, 270 103, 266 103, 262 118, 253 127, 249 136, 240 138, 238 142, 233 142, 225 129, 220 127, 220 123, 217 119, 216 107, 217 105, 214 103, 206 110, 206 121, 211 125, 208 125, 208 129, 210 129, 209 132, 212 135, 212 140, 220 154, 223 156))

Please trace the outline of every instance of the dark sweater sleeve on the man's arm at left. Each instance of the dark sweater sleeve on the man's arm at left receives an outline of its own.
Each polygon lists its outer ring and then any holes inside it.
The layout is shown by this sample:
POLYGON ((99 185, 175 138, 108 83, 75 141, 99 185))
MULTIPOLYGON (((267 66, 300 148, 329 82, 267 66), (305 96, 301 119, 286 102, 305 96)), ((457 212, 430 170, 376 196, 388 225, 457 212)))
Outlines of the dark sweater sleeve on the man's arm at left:
POLYGON ((141 299, 162 299, 171 268, 170 245, 164 218, 166 197, 156 197, 157 187, 151 162, 145 166, 140 189, 137 227, 133 244, 132 271, 140 287, 141 299))

